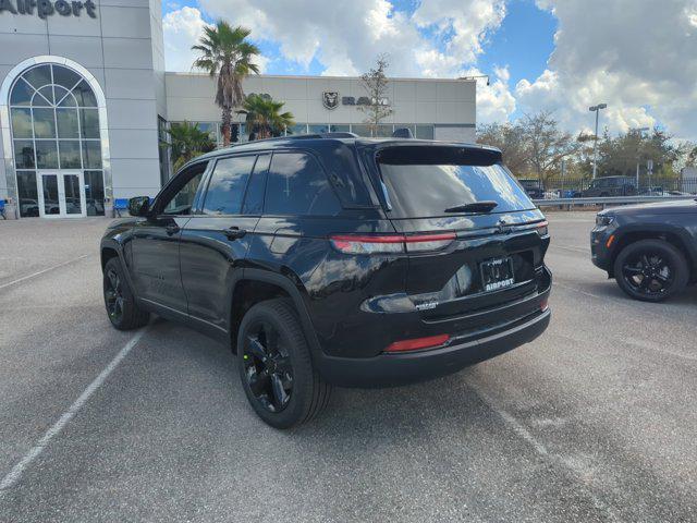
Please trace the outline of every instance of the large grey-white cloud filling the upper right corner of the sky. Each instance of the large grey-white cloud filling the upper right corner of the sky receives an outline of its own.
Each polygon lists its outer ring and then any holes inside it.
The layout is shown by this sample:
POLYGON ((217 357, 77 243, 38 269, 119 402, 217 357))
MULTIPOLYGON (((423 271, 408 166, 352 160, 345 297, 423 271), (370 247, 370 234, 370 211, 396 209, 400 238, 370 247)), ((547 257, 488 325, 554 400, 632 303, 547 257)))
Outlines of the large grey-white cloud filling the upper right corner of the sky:
POLYGON ((523 111, 554 110, 589 130, 588 107, 608 104, 610 131, 664 125, 697 136, 697 1, 537 0, 559 21, 548 70, 515 87, 523 111))

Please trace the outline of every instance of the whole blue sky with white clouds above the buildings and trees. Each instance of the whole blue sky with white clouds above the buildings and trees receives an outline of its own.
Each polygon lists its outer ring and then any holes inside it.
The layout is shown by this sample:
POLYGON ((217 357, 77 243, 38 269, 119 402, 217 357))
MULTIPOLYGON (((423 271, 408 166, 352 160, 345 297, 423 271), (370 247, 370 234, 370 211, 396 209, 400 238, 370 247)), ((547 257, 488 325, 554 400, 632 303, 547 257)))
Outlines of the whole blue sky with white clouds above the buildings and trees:
POLYGON ((487 74, 477 123, 540 110, 591 132, 658 126, 697 139, 697 0, 164 0, 168 71, 191 71, 206 24, 252 29, 268 74, 487 74))

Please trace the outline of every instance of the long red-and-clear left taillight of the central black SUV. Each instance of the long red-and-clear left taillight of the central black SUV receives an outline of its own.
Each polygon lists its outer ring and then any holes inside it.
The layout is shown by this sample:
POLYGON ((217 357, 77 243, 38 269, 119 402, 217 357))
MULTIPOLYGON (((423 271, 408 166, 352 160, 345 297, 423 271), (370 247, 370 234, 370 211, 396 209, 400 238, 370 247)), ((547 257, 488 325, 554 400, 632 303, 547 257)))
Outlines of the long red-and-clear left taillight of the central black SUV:
POLYGON ((334 234, 333 247, 344 254, 399 254, 440 251, 455 240, 454 232, 435 234, 334 234))

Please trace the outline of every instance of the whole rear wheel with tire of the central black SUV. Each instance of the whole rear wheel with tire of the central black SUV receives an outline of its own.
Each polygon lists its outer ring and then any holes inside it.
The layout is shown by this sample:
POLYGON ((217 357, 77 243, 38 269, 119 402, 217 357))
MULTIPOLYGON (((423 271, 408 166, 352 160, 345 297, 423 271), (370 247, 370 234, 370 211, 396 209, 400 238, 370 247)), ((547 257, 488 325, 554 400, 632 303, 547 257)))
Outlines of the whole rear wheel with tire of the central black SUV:
POLYGON ((237 335, 237 367, 249 404, 272 427, 301 425, 329 403, 332 387, 313 365, 290 300, 261 302, 245 314, 237 335))

